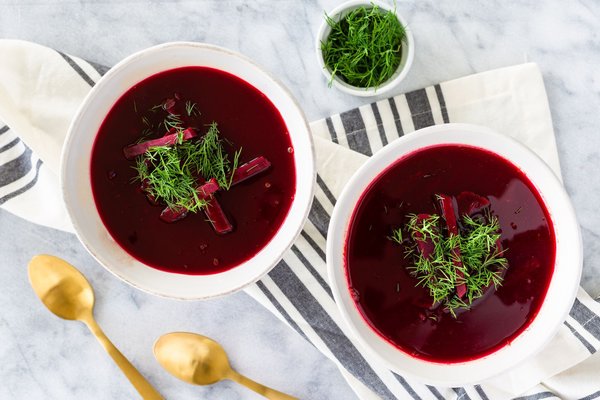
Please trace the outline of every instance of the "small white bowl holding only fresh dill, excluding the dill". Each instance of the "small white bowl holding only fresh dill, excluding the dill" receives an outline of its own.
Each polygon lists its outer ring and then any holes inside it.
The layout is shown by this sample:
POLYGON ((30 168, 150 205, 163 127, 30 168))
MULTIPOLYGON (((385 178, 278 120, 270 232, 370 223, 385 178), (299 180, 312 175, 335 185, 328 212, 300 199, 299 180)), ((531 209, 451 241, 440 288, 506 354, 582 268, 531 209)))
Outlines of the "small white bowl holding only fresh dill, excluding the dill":
MULTIPOLYGON (((385 4, 383 2, 374 0, 374 1, 366 1, 366 0, 351 0, 346 3, 339 5, 334 8, 330 12, 327 13, 334 21, 339 21, 349 12, 359 8, 359 7, 370 7, 371 5, 376 5, 381 10, 392 11, 395 12, 398 21, 406 28, 406 41, 402 46, 402 56, 400 59, 400 64, 396 69, 396 72, 384 83, 382 83, 378 88, 361 88, 352 86, 338 76, 333 77, 333 86, 342 92, 361 97, 370 97, 370 96, 378 96, 389 93, 392 89, 394 89, 398 84, 406 77, 410 67, 412 65, 413 59, 415 58, 415 41, 413 39, 412 33, 410 31, 410 27, 406 23, 406 21, 398 14, 395 10, 395 7, 385 4)), ((323 75, 327 78, 327 82, 331 80, 331 71, 329 68, 325 66, 325 60, 323 59, 323 52, 321 51, 321 42, 325 42, 329 33, 331 32, 331 27, 327 24, 327 21, 323 21, 321 27, 319 28, 319 32, 317 33, 317 41, 315 43, 315 49, 317 51, 317 61, 319 62, 319 66, 321 67, 321 71, 323 71, 323 75)))

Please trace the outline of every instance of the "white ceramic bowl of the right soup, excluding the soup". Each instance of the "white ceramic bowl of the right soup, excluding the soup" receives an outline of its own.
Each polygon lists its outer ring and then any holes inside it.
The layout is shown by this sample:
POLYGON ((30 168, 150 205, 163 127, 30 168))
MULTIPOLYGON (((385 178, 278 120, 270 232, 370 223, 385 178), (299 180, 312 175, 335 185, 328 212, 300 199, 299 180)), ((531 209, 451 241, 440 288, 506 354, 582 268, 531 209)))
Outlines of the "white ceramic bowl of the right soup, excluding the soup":
POLYGON ((514 139, 487 128, 447 124, 425 128, 397 139, 356 172, 340 196, 331 218, 327 266, 336 303, 350 333, 373 357, 399 374, 427 384, 456 387, 480 382, 515 367, 548 343, 575 299, 581 277, 582 253, 579 225, 569 197, 541 158, 514 139), (550 213, 556 235, 556 261, 546 297, 528 328, 510 344, 485 357, 442 364, 411 357, 367 325, 350 296, 343 254, 352 213, 368 185, 399 158, 424 147, 450 143, 486 149, 510 160, 525 173, 550 213))

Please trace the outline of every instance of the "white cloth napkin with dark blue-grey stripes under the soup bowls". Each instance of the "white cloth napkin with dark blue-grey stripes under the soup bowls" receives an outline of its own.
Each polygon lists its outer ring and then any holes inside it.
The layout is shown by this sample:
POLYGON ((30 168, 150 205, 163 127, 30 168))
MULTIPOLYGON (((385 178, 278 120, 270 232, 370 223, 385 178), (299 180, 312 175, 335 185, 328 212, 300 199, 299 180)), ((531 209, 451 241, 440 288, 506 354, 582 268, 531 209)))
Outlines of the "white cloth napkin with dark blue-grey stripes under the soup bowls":
MULTIPOLYGON (((58 187, 71 118, 106 68, 33 43, 0 40, 0 206, 72 231, 58 187), (42 200, 43 201, 40 201, 42 200)), ((332 359, 362 399, 600 398, 600 304, 583 289, 551 343, 532 360, 478 385, 423 385, 378 365, 347 336, 325 266, 329 218, 345 182, 395 138, 467 122, 511 134, 560 176, 552 121, 534 64, 485 72, 368 104, 311 124, 317 191, 298 241, 246 291, 332 359), (519 397, 520 396, 520 397, 519 397)))

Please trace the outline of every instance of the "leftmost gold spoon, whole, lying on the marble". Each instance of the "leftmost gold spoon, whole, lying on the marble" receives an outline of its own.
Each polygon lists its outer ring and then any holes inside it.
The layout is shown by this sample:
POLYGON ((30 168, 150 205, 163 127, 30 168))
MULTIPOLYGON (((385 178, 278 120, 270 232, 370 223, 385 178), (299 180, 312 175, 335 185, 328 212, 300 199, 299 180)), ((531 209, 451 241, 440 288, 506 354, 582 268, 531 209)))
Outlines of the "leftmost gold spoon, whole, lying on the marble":
POLYGON ((33 257, 29 262, 28 269, 29 282, 31 282, 35 294, 50 311, 60 318, 77 320, 86 324, 143 399, 163 399, 108 340, 94 320, 92 315, 94 290, 81 272, 65 260, 48 255, 33 257))

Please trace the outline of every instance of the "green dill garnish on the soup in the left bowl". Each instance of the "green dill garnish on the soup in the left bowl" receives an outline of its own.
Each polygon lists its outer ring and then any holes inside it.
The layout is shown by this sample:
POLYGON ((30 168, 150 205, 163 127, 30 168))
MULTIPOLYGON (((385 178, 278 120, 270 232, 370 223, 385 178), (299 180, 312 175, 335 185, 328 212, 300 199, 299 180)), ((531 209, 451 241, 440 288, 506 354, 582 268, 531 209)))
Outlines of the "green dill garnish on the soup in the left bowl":
MULTIPOLYGON (((138 108, 135 102, 134 108, 138 108)), ((234 150, 233 144, 220 136, 216 122, 199 128, 196 103, 184 102, 175 94, 140 116, 143 130, 137 144, 176 134, 175 143, 171 140, 164 146, 149 147, 136 157, 134 181, 142 184, 149 199, 172 210, 198 212, 207 205, 197 192, 204 181, 214 178, 221 189, 229 190, 241 149, 234 150), (184 137, 187 129, 199 135, 184 137)))

